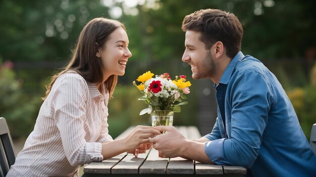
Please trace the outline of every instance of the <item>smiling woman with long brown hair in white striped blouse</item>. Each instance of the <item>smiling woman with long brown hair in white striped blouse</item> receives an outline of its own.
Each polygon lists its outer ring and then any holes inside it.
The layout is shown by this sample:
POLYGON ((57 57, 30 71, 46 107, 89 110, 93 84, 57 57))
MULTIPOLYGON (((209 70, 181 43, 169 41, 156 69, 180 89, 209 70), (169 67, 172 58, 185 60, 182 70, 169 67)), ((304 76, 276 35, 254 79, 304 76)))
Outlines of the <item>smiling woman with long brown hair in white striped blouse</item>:
POLYGON ((132 56, 128 43, 118 21, 96 18, 83 28, 70 63, 52 76, 34 131, 7 176, 77 176, 85 163, 151 147, 157 128, 137 126, 115 141, 108 131, 108 101, 132 56))

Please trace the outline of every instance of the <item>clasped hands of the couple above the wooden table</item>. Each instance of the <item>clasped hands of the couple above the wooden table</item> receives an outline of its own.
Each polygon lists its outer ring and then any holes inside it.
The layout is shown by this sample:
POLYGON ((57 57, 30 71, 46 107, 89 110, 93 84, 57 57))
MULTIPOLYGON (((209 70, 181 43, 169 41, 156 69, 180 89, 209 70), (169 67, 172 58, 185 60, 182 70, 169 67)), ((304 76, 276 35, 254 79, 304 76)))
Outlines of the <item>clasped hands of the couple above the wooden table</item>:
POLYGON ((172 158, 181 156, 183 145, 186 142, 184 136, 170 126, 137 126, 130 134, 130 137, 132 135, 137 135, 139 137, 137 142, 141 143, 135 149, 128 151, 128 153, 133 153, 135 157, 139 153, 145 153, 151 147, 159 151, 160 157, 172 158), (163 131, 167 133, 162 134, 163 131))

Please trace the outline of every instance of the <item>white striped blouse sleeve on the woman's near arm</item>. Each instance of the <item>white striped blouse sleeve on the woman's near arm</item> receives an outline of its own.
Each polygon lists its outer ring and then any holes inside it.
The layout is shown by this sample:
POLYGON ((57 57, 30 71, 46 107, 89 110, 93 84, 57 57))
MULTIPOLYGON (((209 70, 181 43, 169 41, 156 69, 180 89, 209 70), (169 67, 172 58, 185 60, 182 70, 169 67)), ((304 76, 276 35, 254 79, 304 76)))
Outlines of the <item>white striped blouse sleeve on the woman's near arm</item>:
POLYGON ((84 139, 88 93, 85 80, 78 74, 68 73, 57 79, 54 86, 57 86, 56 90, 51 94, 55 97, 55 121, 69 163, 76 166, 102 161, 101 143, 84 139))

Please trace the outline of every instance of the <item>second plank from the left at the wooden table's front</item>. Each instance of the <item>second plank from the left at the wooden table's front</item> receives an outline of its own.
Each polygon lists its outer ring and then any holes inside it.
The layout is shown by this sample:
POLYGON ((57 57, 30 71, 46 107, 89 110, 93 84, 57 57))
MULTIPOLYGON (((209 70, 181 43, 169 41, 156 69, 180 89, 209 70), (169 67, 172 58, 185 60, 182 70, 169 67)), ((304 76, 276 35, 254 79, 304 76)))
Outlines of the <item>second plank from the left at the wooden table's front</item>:
POLYGON ((138 174, 138 168, 143 164, 149 150, 146 153, 138 154, 137 158, 133 154, 127 154, 117 165, 112 167, 112 174, 138 174))

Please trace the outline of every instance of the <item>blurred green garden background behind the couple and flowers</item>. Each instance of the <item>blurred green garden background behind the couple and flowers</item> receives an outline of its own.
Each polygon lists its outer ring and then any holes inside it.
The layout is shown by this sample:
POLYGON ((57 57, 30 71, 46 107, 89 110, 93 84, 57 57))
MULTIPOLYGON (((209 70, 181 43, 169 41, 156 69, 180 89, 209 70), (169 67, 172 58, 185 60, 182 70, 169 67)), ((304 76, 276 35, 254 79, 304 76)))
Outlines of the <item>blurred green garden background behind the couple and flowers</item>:
MULTIPOLYGON (((96 17, 123 22, 129 59, 109 102, 109 131, 115 138, 131 125, 150 125, 139 116, 145 105, 132 81, 150 70, 187 75, 192 83, 188 105, 175 113, 174 125, 212 131, 217 117, 213 83, 193 80, 181 61, 183 18, 199 9, 234 13, 244 27, 242 52, 261 60, 282 83, 309 139, 316 123, 316 1, 314 0, 63 0, 0 1, 0 117, 14 142, 24 143, 33 130, 50 76, 68 61, 83 26, 96 17)), ((282 128, 282 127, 280 127, 282 128)))

